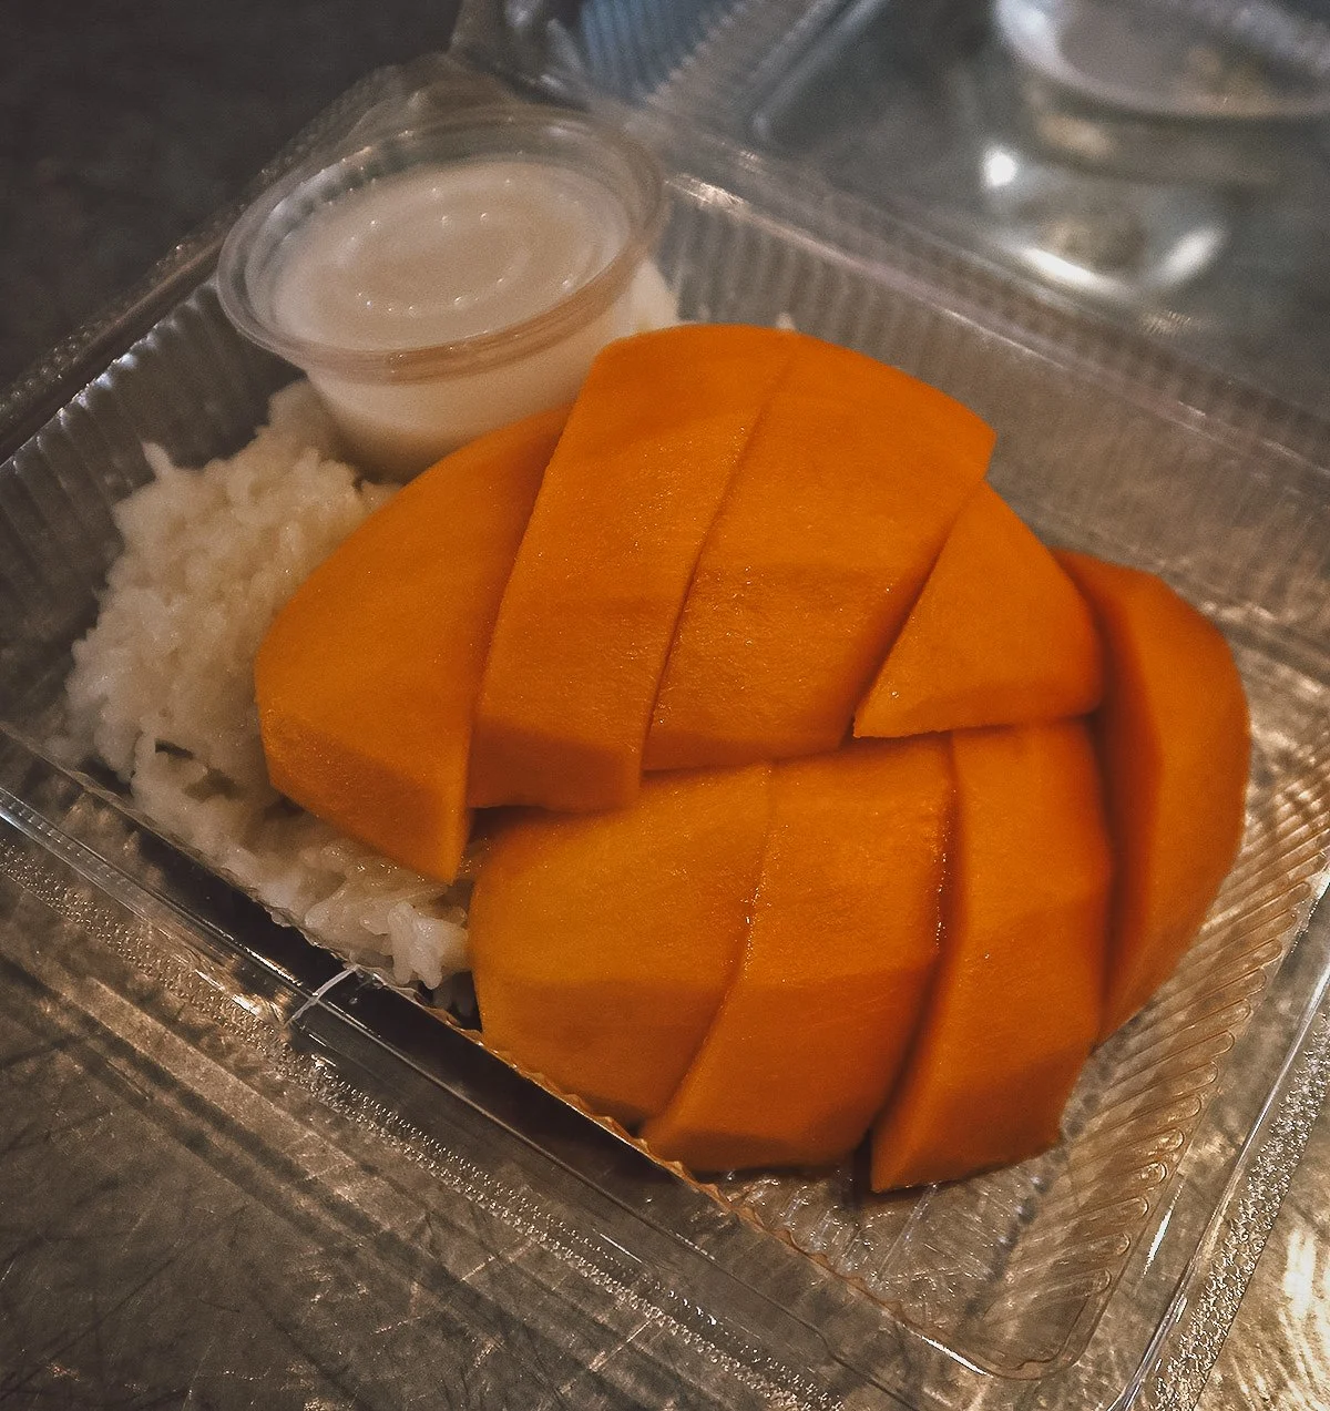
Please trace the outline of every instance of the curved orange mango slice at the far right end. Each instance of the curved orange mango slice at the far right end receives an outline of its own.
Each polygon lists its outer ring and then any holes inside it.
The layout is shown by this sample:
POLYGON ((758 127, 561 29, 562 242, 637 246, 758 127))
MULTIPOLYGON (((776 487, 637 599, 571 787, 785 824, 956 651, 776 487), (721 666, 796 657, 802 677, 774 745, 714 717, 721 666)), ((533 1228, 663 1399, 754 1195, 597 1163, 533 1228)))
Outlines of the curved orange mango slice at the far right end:
POLYGON ((1099 621, 1097 718, 1118 858, 1102 1036, 1172 974, 1243 838, 1251 732, 1223 634, 1154 574, 1059 560, 1099 621))

